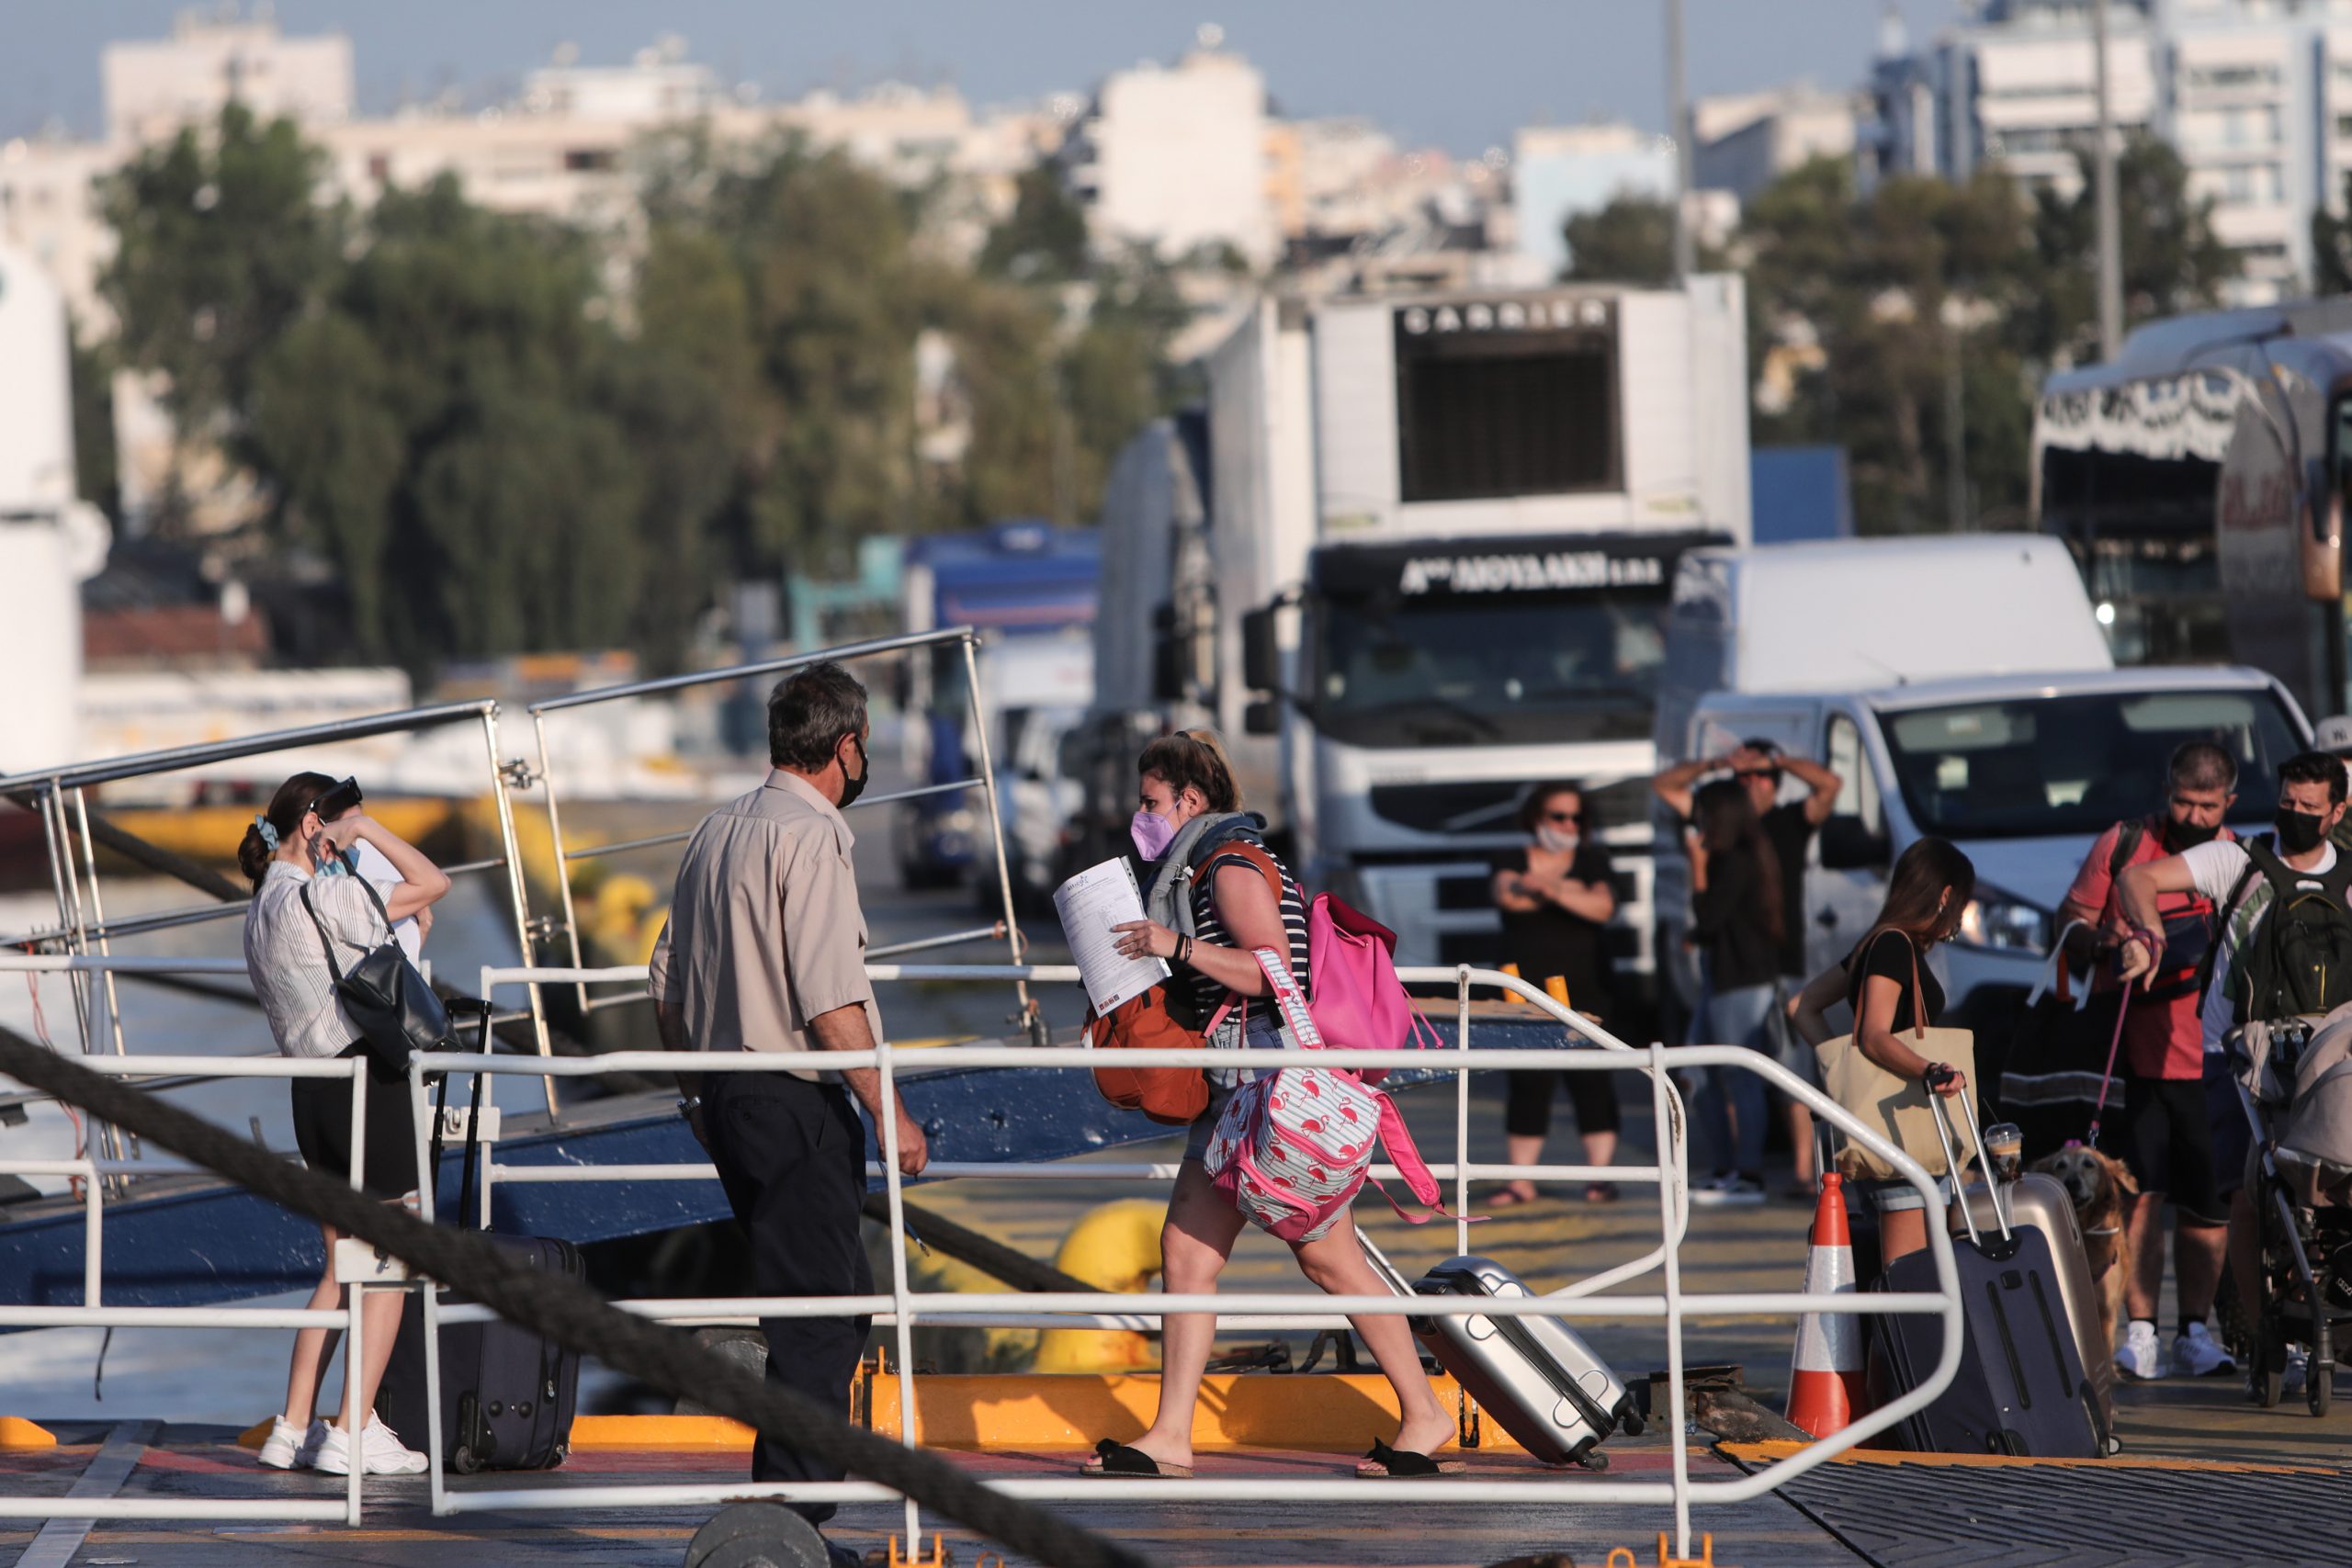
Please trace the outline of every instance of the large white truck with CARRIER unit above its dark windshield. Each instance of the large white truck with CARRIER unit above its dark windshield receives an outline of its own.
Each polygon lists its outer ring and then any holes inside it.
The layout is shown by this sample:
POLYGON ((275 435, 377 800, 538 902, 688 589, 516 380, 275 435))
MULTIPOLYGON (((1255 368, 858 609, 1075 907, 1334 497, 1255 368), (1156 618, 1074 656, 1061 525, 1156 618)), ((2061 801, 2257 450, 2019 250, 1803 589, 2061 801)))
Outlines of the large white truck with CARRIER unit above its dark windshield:
POLYGON ((1743 313, 1715 275, 1261 301, 1207 421, 1112 477, 1098 701, 1148 677, 1167 722, 1214 722, 1305 882, 1411 964, 1494 959, 1519 797, 1583 783, 1646 978, 1668 590, 1748 541, 1743 313))

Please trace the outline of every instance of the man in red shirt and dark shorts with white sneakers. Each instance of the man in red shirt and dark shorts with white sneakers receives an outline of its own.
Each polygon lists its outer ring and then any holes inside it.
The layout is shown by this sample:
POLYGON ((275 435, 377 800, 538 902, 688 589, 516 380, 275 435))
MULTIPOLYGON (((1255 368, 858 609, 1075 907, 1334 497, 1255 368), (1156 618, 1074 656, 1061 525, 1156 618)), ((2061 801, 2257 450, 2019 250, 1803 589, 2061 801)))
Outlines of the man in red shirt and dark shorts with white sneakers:
MULTIPOLYGON (((2117 872, 2176 856, 2213 837, 2237 799, 2237 762, 2211 741, 2190 741, 2173 752, 2164 811, 2117 823, 2098 835, 2074 886, 2058 905, 2058 919, 2089 929, 2067 938, 2077 957, 2096 957, 2098 990, 2114 990, 2110 959, 2126 936, 2117 900, 2117 872), (2122 853, 2117 853, 2122 851, 2122 853)), ((2213 940, 2213 905, 2197 893, 2164 893, 2166 950, 2150 990, 2133 987, 2124 1011, 2119 1077, 2124 1079, 2124 1164, 2140 1182, 2126 1211, 2131 1279, 2124 1281, 2124 1314, 2131 1319, 2114 1349, 2126 1378, 2161 1378, 2166 1356, 2157 1340, 2157 1293, 2164 1288, 2164 1199, 2171 1197, 2173 1284, 2180 1291, 2180 1333, 2171 1371, 2211 1375, 2234 1363, 2206 1333, 2204 1321, 2220 1288, 2230 1208, 2213 1166, 2213 1131, 2204 1095, 2204 1023, 2197 969, 2213 940), (2194 1331, 2192 1331, 2194 1326, 2194 1331)))

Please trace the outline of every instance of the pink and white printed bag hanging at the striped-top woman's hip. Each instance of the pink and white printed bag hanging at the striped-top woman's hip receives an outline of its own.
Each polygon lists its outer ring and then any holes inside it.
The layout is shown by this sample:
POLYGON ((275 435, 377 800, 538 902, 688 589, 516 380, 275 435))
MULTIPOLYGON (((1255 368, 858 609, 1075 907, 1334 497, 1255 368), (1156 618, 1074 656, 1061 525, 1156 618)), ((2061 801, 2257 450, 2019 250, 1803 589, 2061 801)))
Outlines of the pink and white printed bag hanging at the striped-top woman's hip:
MULTIPOLYGON (((1317 912, 1319 907, 1322 900, 1317 912)), ((1305 997, 1298 994, 1289 964, 1272 947, 1258 947, 1254 957, 1275 992, 1284 1039, 1308 1051, 1322 1048, 1324 1034, 1305 997)), ((1397 1103, 1343 1067, 1279 1067, 1244 1084, 1225 1103, 1204 1164, 1211 1185, 1251 1222, 1282 1241, 1317 1241, 1362 1192, 1371 1173, 1374 1143, 1388 1150, 1421 1204, 1439 1215, 1446 1213, 1437 1178, 1404 1131, 1397 1103)), ((1374 1187, 1406 1222, 1423 1225, 1435 1218, 1406 1213, 1381 1182, 1374 1187)))

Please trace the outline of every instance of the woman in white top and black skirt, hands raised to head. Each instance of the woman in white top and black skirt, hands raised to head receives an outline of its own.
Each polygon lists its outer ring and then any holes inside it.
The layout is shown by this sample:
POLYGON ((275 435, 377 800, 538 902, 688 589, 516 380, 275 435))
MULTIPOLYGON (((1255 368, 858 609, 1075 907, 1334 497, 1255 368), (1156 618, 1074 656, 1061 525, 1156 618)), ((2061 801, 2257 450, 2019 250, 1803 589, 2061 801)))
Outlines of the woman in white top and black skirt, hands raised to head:
MULTIPOLYGON (((360 785, 325 773, 294 773, 270 797, 238 844, 238 867, 254 884, 245 910, 245 973, 268 1018, 278 1051, 301 1058, 365 1056, 360 1030, 334 992, 334 971, 381 947, 393 924, 426 917, 449 891, 449 877, 397 832, 367 816, 360 785), (369 846, 393 867, 393 877, 362 882, 353 870, 353 846, 369 846), (315 919, 313 919, 315 912, 315 919), (322 931, 325 926, 325 931, 322 931), (334 969, 327 938, 343 947, 334 969)), ((350 1180, 350 1084, 346 1079, 294 1079, 294 1143, 303 1164, 350 1180)), ((416 1128, 409 1086, 400 1072, 367 1074, 367 1166, 360 1173, 369 1197, 397 1204, 416 1192, 416 1128)), ((320 1227, 327 1267, 310 1291, 310 1309, 343 1302, 334 1279, 336 1229, 320 1227)), ((350 1474, 353 1446, 372 1476, 426 1469, 426 1455, 400 1443, 374 1413, 365 1432, 353 1432, 360 1410, 376 1403, 376 1385, 393 1354, 402 1295, 379 1291, 362 1321, 365 1366, 358 1403, 346 1403, 334 1427, 318 1420, 318 1394, 327 1380, 339 1331, 301 1328, 287 1368, 287 1403, 261 1443, 270 1469, 322 1469, 350 1474)))

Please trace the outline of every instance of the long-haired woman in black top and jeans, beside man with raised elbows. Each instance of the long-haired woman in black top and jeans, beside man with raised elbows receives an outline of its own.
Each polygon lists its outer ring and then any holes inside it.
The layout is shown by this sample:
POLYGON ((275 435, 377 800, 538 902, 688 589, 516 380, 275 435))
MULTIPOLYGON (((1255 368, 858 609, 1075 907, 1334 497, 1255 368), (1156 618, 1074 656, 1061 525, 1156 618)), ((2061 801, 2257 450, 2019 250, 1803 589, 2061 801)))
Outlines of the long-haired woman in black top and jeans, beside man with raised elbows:
MULTIPOLYGON (((1717 778, 1691 797, 1691 940, 1700 957, 1700 1004, 1691 1041, 1773 1053, 1771 1004, 1780 978, 1780 856, 1764 837, 1748 788, 1717 778)), ((1691 1114, 1715 1175, 1693 1201, 1764 1201, 1764 1079, 1708 1067, 1691 1114)))

